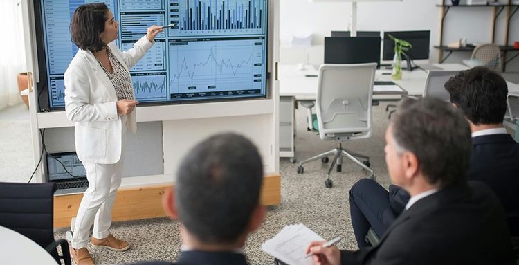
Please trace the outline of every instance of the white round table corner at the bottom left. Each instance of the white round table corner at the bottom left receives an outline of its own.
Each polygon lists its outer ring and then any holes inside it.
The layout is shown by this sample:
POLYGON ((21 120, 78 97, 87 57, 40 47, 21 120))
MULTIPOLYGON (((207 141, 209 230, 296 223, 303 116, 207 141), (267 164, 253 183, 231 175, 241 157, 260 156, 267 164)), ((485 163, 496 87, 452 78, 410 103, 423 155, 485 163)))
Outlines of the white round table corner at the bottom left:
POLYGON ((57 264, 35 241, 3 226, 0 226, 0 257, 2 264, 57 264))

